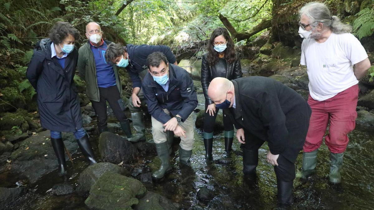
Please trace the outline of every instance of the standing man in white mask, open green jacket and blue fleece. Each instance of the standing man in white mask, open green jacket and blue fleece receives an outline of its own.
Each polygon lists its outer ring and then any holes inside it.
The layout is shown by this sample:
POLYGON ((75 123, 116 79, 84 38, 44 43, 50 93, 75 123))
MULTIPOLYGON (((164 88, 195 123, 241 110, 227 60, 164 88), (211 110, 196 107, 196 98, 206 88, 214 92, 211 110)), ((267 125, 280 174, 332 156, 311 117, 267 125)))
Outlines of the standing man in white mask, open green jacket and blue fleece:
POLYGON ((90 22, 86 25, 88 41, 79 48, 78 65, 80 77, 86 81, 86 95, 90 99, 98 121, 99 133, 108 131, 107 101, 119 120, 127 138, 131 138, 129 120, 123 112, 122 85, 118 68, 105 61, 105 52, 110 41, 102 38, 100 25, 90 22))

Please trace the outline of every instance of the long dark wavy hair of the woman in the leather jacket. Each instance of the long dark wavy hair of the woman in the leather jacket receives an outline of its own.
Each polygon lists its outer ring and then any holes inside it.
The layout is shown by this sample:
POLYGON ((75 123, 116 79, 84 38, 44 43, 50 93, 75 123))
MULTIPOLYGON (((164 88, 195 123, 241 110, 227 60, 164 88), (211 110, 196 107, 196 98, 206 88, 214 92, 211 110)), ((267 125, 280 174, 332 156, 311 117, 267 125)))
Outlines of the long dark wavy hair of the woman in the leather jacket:
POLYGON ((235 49, 234 49, 234 42, 230 37, 229 31, 227 31, 226 28, 216 28, 208 42, 208 63, 209 65, 215 65, 218 62, 218 59, 220 58, 218 55, 218 52, 214 50, 214 39, 215 37, 218 37, 220 35, 223 35, 223 37, 226 39, 227 43, 226 46, 227 48, 223 51, 225 53, 225 58, 227 59, 227 62, 233 63, 236 59, 235 55, 235 49))

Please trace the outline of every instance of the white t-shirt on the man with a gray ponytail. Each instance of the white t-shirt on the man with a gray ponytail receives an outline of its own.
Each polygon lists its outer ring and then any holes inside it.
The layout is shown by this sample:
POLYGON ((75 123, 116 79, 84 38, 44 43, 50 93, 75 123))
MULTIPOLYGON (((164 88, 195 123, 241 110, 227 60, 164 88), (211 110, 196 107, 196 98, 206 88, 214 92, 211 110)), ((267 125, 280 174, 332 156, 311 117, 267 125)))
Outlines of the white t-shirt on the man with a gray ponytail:
POLYGON ((367 57, 360 41, 350 33, 332 33, 324 43, 304 39, 300 64, 307 66, 310 96, 324 101, 357 84, 353 65, 367 57))

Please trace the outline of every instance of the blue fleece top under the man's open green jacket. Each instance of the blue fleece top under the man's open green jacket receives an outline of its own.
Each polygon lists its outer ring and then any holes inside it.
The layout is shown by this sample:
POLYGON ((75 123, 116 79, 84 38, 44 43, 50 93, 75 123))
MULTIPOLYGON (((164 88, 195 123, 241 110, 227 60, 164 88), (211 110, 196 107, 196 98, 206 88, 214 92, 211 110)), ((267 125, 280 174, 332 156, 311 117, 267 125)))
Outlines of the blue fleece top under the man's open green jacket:
POLYGON ((116 76, 114 75, 113 66, 107 64, 105 61, 105 52, 107 51, 107 44, 105 41, 99 46, 95 47, 90 43, 90 47, 95 58, 97 85, 99 87, 111 87, 116 85, 116 76))

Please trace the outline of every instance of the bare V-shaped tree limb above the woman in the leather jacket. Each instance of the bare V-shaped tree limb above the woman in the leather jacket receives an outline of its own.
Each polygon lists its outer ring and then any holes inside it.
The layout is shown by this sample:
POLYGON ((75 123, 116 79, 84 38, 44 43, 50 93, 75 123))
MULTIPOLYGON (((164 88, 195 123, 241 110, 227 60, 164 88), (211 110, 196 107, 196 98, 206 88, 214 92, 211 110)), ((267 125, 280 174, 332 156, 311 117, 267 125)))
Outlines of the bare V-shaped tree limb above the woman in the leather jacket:
POLYGON ((236 41, 241 41, 241 40, 248 39, 249 37, 257 34, 258 32, 260 32, 260 31, 262 31, 266 28, 270 28, 271 24, 272 24, 271 19, 268 19, 268 20, 264 19, 258 25, 253 27, 252 30, 238 33, 235 30, 235 28, 231 25, 230 21, 226 17, 221 15, 221 13, 220 13, 220 20, 223 23, 223 25, 227 28, 227 30, 230 32, 232 39, 236 38, 236 41))

